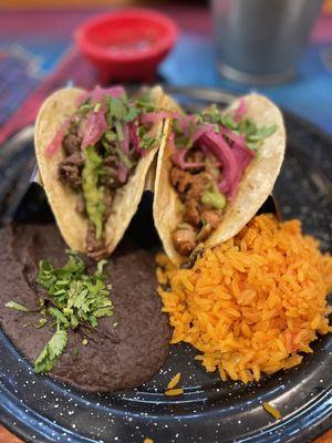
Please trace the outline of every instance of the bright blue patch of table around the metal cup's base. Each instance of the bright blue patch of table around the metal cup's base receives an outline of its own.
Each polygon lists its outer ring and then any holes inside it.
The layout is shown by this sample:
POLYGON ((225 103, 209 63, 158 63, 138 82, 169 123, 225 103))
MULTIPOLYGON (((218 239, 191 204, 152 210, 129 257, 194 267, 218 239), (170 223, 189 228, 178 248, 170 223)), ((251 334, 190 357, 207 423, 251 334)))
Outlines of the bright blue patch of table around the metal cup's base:
POLYGON ((299 63, 298 75, 281 85, 248 87, 222 79, 217 70, 211 38, 184 34, 160 73, 174 85, 218 86, 234 92, 259 91, 276 103, 332 133, 332 73, 322 62, 322 51, 332 45, 312 43, 299 63))

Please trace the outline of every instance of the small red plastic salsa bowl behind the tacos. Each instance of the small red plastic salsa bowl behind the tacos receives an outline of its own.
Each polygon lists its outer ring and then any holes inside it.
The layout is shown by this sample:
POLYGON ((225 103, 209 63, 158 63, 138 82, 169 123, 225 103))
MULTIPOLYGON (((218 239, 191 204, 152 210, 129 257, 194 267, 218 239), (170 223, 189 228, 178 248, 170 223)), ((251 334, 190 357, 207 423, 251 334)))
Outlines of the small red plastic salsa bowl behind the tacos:
POLYGON ((124 9, 85 21, 75 39, 104 81, 149 81, 177 34, 175 22, 164 13, 124 9))

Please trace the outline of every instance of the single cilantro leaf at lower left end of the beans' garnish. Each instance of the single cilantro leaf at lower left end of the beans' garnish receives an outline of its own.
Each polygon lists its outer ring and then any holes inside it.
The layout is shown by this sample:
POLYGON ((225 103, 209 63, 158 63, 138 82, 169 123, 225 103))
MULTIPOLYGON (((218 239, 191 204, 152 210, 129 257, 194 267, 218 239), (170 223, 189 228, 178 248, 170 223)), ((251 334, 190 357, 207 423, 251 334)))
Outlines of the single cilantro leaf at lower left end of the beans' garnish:
POLYGON ((54 367, 58 358, 62 354, 68 343, 68 332, 58 329, 51 340, 46 343, 40 356, 34 361, 34 371, 49 372, 54 367))

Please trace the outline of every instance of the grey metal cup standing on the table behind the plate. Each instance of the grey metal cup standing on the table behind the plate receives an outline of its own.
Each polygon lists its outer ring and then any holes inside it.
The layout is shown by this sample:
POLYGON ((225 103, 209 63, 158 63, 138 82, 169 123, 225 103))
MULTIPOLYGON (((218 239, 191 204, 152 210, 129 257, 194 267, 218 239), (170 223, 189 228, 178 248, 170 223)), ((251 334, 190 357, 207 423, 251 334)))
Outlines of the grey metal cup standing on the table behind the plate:
POLYGON ((250 84, 292 78, 322 0, 211 0, 218 66, 250 84))

